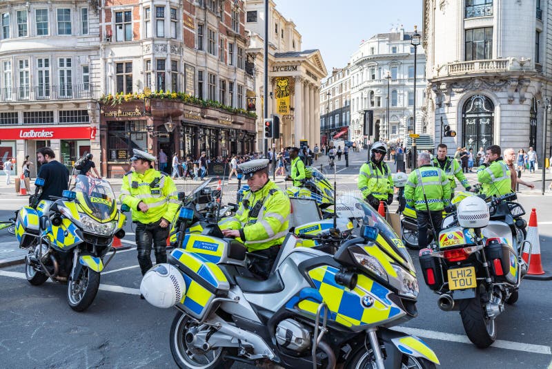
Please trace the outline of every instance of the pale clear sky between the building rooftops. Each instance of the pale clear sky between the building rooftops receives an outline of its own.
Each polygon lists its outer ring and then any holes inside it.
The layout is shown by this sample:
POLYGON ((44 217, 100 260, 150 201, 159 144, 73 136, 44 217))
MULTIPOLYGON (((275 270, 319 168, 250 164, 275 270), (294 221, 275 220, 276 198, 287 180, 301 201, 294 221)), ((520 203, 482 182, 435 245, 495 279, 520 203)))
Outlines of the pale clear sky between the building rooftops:
POLYGON ((422 28, 422 0, 274 0, 302 35, 302 49, 317 48, 328 73, 343 68, 360 42, 401 24, 422 28))

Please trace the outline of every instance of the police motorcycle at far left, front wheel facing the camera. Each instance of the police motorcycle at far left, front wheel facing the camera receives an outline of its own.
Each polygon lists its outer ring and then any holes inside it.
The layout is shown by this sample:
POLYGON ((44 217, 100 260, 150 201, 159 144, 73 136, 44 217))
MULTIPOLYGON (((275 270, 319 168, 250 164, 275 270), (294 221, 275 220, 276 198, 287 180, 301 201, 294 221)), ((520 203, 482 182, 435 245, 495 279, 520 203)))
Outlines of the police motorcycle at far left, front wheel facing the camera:
POLYGON ((79 175, 74 191, 38 203, 44 180, 37 178, 34 185, 30 206, 21 208, 16 222, 19 247, 28 250, 26 278, 32 285, 48 278, 67 283, 68 304, 81 312, 94 301, 100 273, 115 256, 113 236, 124 238, 126 216, 117 210, 106 180, 79 175))

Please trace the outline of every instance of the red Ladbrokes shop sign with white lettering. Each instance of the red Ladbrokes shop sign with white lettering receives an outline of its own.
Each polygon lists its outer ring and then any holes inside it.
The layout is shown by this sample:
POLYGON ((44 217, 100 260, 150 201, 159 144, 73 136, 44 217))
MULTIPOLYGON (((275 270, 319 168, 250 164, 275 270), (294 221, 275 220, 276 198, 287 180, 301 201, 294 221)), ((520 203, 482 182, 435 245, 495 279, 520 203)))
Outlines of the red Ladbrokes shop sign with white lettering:
POLYGON ((90 140, 90 127, 5 128, 2 140, 90 140))

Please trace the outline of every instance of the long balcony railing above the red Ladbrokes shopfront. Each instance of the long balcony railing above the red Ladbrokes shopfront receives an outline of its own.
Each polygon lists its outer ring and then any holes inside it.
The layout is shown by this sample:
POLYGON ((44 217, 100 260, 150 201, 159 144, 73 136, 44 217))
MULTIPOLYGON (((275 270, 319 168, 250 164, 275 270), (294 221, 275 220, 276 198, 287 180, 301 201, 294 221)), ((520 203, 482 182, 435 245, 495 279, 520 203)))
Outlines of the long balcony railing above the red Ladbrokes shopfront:
POLYGON ((17 86, 0 88, 0 102, 41 100, 87 100, 99 97, 99 88, 93 84, 64 84, 59 86, 17 86))

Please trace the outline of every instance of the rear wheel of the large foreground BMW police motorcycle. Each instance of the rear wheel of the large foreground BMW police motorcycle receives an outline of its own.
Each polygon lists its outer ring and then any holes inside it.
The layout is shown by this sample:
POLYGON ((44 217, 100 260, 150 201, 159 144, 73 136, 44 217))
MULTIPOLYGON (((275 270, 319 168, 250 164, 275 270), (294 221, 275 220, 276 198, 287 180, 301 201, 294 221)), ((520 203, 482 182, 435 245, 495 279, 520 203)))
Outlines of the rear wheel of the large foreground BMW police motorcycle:
MULTIPOLYGON (((226 360, 226 349, 212 348, 202 350, 188 344, 186 333, 209 330, 206 325, 198 325, 190 316, 178 311, 170 326, 170 353, 179 368, 186 369, 225 369, 232 366, 233 361, 226 360)), ((194 334, 195 335, 195 334, 194 334)), ((191 336, 188 335, 188 339, 191 336)))

